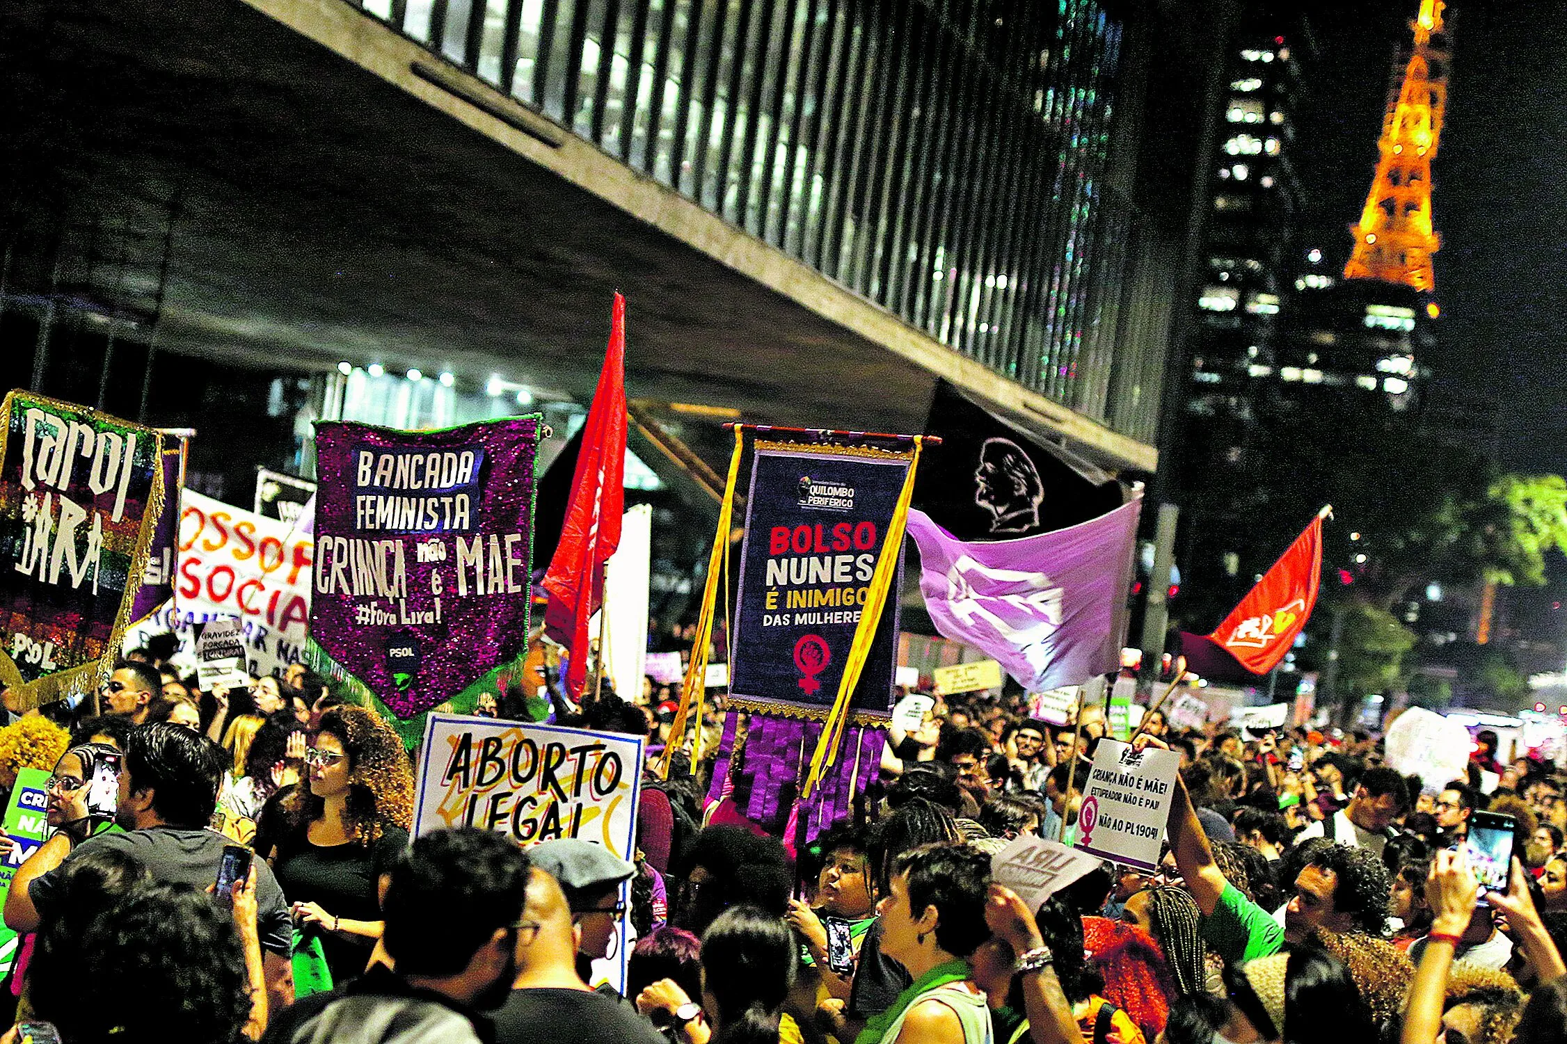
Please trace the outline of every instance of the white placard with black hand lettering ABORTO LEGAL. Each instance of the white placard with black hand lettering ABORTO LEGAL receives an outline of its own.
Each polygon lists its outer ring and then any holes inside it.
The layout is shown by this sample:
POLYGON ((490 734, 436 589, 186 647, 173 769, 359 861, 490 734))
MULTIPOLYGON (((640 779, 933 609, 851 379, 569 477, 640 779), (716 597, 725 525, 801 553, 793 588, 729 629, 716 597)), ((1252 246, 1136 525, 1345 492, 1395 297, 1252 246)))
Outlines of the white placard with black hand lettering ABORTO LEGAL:
MULTIPOLYGON (((429 714, 420 747, 414 836, 478 826, 536 845, 580 837, 636 856, 642 740, 555 725, 429 714)), ((630 911, 630 881, 621 900, 630 911)), ((625 983, 630 914, 621 919, 608 980, 625 983)))

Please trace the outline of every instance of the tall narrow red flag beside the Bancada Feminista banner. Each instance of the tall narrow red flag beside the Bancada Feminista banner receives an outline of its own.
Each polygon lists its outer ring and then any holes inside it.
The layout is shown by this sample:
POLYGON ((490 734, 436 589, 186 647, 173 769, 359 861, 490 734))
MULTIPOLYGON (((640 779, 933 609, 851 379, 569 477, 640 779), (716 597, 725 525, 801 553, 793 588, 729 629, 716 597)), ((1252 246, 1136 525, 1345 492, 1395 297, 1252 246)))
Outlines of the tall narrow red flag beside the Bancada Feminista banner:
POLYGON ((588 681, 588 620, 603 604, 603 563, 621 545, 625 510, 625 297, 614 296, 610 349, 583 424, 583 446, 572 473, 561 542, 544 573, 550 604, 544 626, 570 650, 566 690, 575 698, 588 681))

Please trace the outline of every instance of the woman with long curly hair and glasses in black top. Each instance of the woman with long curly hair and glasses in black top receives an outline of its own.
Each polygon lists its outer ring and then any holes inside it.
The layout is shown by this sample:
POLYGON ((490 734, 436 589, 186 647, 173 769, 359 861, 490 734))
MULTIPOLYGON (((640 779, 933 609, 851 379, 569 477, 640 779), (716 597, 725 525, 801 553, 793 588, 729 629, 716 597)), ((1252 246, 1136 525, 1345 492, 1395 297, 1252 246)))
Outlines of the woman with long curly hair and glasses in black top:
POLYGON ((335 983, 364 972, 381 938, 378 881, 407 845, 414 775, 398 734, 353 706, 321 715, 306 765, 302 786, 282 798, 273 870, 335 983))

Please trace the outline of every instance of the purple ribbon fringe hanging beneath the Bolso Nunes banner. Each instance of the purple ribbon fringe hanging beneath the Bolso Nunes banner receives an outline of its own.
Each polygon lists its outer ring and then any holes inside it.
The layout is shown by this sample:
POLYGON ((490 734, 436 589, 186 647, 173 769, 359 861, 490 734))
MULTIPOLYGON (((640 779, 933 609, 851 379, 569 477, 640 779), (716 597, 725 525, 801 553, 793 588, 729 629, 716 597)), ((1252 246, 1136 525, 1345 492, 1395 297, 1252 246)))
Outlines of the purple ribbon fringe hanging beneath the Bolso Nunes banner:
MULTIPOLYGON (((724 739, 719 742, 718 761, 713 765, 713 781, 707 800, 719 801, 726 795, 726 781, 735 754, 736 712, 724 720, 724 739)), ((751 715, 751 731, 746 736, 744 775, 751 778, 751 795, 744 815, 768 831, 784 830, 791 805, 798 800, 798 783, 809 769, 810 756, 821 736, 820 722, 798 718, 774 718, 763 714, 751 715)), ((845 728, 843 750, 837 764, 821 778, 821 784, 799 814, 805 817, 805 841, 815 841, 820 833, 849 817, 854 798, 865 792, 867 784, 881 775, 881 750, 885 733, 876 726, 849 725, 845 728)), ((741 794, 744 787, 736 787, 741 794)), ((787 844, 794 839, 788 837, 787 844)))

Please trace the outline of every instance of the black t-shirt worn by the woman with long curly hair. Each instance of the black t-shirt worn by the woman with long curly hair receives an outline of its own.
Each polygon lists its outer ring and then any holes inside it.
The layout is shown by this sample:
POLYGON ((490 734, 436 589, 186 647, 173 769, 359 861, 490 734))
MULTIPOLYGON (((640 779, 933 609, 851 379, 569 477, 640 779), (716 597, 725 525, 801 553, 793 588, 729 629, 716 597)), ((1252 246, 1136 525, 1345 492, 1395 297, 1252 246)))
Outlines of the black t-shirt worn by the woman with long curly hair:
MULTIPOLYGON (((328 914, 348 920, 381 920, 376 884, 406 847, 407 831, 400 826, 382 826, 381 839, 370 847, 354 841, 317 845, 299 830, 277 839, 273 867, 290 903, 318 903, 328 914)), ((306 930, 315 928, 310 925, 306 930)), ((365 970, 375 939, 340 931, 320 934, 334 985, 365 970)))

